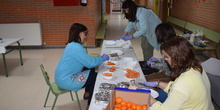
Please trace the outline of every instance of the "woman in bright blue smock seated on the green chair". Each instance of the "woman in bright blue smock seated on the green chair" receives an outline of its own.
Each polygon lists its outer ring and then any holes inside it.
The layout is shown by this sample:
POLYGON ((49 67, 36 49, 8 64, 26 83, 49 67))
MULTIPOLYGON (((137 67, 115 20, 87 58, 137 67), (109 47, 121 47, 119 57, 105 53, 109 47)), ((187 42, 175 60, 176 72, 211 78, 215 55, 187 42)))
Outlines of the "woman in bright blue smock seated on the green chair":
POLYGON ((79 23, 71 26, 67 46, 56 67, 55 82, 65 90, 78 91, 85 87, 84 99, 88 99, 89 105, 97 76, 94 67, 109 60, 109 56, 90 57, 82 45, 87 34, 86 26, 79 23))

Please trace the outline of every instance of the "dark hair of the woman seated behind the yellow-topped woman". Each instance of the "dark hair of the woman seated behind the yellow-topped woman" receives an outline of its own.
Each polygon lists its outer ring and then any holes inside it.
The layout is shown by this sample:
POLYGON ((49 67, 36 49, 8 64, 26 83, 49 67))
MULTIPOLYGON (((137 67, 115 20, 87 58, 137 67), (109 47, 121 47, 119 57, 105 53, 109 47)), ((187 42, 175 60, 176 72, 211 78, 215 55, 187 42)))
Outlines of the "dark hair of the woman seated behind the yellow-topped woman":
POLYGON ((168 41, 176 36, 173 27, 168 23, 159 24, 155 29, 155 33, 157 36, 157 42, 159 44, 162 44, 163 42, 168 41))

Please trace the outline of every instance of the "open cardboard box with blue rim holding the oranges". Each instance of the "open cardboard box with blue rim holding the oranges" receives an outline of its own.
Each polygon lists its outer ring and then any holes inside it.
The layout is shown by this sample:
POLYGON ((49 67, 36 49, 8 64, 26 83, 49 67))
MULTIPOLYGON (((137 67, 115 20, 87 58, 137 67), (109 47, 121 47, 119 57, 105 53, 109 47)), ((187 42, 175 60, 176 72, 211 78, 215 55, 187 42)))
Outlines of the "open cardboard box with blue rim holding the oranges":
POLYGON ((148 105, 150 99, 150 90, 131 90, 127 88, 115 88, 110 98, 110 101, 104 110, 113 110, 116 97, 121 97, 124 101, 130 101, 139 105, 148 105))

